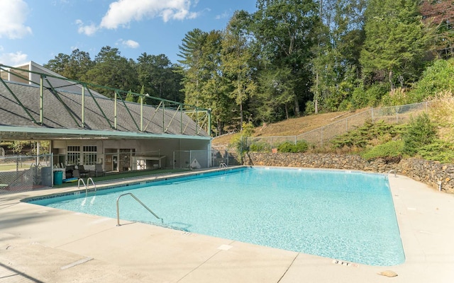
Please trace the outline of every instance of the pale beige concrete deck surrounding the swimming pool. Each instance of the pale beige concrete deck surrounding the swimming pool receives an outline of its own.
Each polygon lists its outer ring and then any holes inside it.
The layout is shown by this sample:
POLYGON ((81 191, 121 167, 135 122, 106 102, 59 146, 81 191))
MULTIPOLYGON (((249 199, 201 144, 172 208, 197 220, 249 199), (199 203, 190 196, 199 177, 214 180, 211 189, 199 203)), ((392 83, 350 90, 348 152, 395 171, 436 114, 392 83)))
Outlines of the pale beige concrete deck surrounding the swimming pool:
MULTIPOLYGON (((331 258, 21 202, 0 195, 0 282, 454 282, 454 195, 389 175, 406 261, 331 258), (397 277, 378 275, 392 270, 397 277)), ((115 205, 115 204, 113 204, 115 205)))

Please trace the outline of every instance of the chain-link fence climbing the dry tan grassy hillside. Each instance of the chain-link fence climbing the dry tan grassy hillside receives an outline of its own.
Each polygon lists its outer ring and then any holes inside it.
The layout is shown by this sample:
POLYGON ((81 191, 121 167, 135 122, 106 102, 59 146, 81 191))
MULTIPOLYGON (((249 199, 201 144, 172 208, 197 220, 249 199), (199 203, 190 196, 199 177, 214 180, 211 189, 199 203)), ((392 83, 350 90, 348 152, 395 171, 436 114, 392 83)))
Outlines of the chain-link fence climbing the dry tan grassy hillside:
POLYGON ((428 108, 430 108, 430 103, 428 102, 385 108, 370 108, 297 136, 248 137, 246 144, 247 146, 255 144, 258 149, 267 150, 273 149, 286 141, 292 144, 297 144, 298 141, 307 141, 309 144, 316 147, 323 147, 334 137, 364 125, 367 120, 372 120, 372 122, 383 120, 384 122, 394 124, 404 123, 407 122, 410 117, 415 117, 421 112, 427 112, 428 108))

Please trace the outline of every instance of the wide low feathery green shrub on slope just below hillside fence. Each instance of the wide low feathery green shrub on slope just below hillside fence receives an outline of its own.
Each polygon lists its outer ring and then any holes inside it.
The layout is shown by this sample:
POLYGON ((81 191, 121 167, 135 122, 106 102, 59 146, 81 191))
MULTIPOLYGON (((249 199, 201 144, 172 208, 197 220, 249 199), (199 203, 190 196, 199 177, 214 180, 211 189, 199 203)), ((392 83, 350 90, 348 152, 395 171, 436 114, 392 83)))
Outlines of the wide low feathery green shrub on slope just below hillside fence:
POLYGON ((399 134, 399 127, 396 125, 387 124, 384 121, 372 123, 372 121, 368 120, 361 127, 334 138, 331 144, 335 149, 342 149, 345 146, 365 148, 365 146, 370 145, 375 139, 388 141, 397 137, 399 134))

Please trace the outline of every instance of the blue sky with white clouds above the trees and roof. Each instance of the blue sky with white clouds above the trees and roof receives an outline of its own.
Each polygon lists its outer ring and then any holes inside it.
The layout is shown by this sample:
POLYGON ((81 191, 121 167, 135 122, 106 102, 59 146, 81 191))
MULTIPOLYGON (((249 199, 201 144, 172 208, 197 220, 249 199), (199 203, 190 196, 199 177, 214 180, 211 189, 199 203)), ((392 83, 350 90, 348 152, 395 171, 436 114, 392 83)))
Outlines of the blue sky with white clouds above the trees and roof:
POLYGON ((0 64, 46 64, 79 48, 92 59, 101 47, 123 57, 165 54, 177 63, 184 35, 222 30, 234 11, 255 0, 0 0, 0 64))

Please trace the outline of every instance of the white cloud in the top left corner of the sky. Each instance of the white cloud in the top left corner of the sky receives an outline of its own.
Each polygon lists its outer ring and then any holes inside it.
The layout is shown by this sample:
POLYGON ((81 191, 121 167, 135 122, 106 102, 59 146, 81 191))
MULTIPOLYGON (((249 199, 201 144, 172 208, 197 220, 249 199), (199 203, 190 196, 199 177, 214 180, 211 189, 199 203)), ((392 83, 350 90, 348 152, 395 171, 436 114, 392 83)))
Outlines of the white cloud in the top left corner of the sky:
POLYGON ((28 5, 23 0, 1 0, 0 38, 16 39, 31 34, 31 28, 24 25, 28 11, 28 5))

